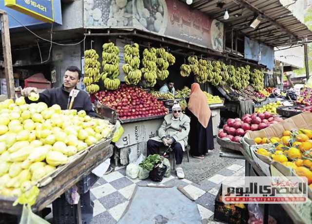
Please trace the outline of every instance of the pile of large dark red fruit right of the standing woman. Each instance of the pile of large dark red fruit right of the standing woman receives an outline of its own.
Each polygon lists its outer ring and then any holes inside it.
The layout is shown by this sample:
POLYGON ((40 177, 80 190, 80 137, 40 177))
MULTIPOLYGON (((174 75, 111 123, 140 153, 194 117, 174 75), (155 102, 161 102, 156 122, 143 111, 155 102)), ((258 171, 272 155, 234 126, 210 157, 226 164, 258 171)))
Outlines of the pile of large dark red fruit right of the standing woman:
POLYGON ((273 116, 270 112, 245 114, 241 119, 229 118, 223 128, 219 130, 218 137, 239 142, 240 138, 248 131, 265 129, 282 120, 281 117, 273 116))

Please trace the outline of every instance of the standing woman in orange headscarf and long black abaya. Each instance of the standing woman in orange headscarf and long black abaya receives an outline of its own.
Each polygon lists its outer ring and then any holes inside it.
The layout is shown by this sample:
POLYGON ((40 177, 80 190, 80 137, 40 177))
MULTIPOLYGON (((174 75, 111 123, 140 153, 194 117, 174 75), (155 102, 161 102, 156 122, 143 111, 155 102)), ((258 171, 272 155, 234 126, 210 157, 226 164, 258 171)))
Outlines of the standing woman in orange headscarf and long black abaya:
POLYGON ((188 102, 188 115, 191 117, 190 146, 193 157, 203 159, 208 150, 214 149, 214 134, 211 111, 207 98, 198 83, 191 86, 188 102))

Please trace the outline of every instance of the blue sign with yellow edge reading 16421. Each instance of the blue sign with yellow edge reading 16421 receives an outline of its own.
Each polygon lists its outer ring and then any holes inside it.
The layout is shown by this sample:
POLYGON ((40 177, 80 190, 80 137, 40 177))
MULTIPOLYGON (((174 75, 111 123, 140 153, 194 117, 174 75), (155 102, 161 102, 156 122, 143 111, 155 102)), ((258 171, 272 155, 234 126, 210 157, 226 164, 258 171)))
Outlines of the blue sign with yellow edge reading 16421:
POLYGON ((44 22, 53 22, 53 0, 5 0, 6 7, 44 22))

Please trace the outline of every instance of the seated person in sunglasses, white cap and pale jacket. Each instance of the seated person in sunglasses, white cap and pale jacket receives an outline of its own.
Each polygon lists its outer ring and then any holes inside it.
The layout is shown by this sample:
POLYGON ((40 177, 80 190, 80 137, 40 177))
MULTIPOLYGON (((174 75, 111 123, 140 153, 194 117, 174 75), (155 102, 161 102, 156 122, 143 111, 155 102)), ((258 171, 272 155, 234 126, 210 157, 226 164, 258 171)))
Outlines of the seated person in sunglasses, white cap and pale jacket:
POLYGON ((190 118, 181 112, 179 103, 175 102, 172 113, 164 117, 162 125, 157 131, 158 136, 147 141, 147 155, 159 154, 160 147, 171 147, 176 157, 176 175, 183 179, 181 168, 183 151, 187 146, 190 131, 190 118))

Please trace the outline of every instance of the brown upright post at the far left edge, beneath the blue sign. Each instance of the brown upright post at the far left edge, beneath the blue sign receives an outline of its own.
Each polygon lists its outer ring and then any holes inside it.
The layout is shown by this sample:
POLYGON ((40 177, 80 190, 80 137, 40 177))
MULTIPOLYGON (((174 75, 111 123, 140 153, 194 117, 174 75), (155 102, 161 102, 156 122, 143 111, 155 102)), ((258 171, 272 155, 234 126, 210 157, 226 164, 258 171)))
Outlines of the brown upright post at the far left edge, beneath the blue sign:
POLYGON ((8 98, 13 99, 15 97, 15 87, 12 66, 9 19, 5 11, 1 10, 0 20, 1 20, 1 37, 4 58, 4 73, 6 79, 7 93, 8 98))

